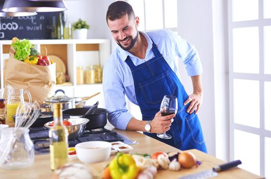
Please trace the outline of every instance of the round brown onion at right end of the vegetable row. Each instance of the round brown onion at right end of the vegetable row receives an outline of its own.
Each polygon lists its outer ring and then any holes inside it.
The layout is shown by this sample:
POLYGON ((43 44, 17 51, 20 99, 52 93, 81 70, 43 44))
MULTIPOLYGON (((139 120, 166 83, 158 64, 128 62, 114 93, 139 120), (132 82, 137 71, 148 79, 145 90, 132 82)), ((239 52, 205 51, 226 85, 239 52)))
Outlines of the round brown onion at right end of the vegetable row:
POLYGON ((178 162, 183 168, 191 168, 197 165, 196 156, 189 151, 180 153, 178 155, 178 162))

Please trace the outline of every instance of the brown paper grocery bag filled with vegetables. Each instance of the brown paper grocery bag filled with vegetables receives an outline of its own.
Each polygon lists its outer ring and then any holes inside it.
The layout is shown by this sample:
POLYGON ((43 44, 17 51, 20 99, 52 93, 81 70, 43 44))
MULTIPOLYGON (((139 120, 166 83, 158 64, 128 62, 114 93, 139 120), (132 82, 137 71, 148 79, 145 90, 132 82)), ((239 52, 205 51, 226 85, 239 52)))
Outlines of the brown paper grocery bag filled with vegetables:
MULTIPOLYGON (((26 89, 31 93, 32 101, 40 104, 45 98, 51 97, 56 85, 56 64, 47 66, 29 64, 14 59, 14 50, 11 47, 5 75, 4 98, 7 99, 7 85, 14 89, 26 89)), ((27 101, 28 98, 25 97, 27 101)))

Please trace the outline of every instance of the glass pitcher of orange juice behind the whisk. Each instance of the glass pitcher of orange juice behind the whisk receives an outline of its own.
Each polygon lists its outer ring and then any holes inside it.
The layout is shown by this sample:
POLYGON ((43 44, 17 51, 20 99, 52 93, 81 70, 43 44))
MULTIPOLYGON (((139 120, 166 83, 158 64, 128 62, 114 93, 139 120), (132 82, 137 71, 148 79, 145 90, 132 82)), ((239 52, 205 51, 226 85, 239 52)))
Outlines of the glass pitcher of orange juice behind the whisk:
POLYGON ((16 90, 12 86, 8 85, 8 100, 7 100, 7 116, 6 124, 10 127, 14 126, 14 120, 12 116, 16 114, 16 109, 19 104, 24 104, 24 94, 27 94, 29 102, 32 102, 30 92, 25 89, 16 90))

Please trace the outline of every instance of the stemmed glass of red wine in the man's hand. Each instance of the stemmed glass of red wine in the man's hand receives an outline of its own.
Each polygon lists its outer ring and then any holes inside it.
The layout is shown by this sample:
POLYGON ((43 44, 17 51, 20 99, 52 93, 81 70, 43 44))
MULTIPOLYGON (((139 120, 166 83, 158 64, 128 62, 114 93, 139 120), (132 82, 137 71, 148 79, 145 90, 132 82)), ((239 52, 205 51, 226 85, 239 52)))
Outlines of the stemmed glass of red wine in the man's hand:
MULTIPOLYGON (((166 95, 164 96, 161 106, 160 106, 160 111, 162 116, 168 116, 168 115, 173 115, 177 113, 178 109, 178 100, 177 97, 175 96, 169 96, 166 95)), ((157 133, 157 137, 161 139, 171 139, 172 137, 166 132, 164 133, 157 133)))

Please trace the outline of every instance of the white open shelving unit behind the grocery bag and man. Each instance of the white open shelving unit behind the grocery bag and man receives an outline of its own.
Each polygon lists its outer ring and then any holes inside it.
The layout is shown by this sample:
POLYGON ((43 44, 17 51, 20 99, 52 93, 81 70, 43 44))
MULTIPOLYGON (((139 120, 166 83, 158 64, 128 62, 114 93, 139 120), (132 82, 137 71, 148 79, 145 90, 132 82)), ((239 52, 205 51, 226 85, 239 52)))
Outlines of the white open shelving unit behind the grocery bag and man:
MULTIPOLYGON (((41 55, 55 55, 62 59, 66 66, 66 74, 70 83, 57 84, 56 89, 63 89, 67 96, 83 97, 102 92, 102 84, 77 84, 77 66, 99 64, 104 66, 110 55, 109 39, 62 39, 62 40, 30 40, 41 55)), ((4 94, 5 61, 9 58, 11 40, 0 40, 0 97, 4 94)), ((104 107, 103 95, 97 96, 99 107, 104 107)), ((92 99, 93 101, 95 99, 92 99)), ((92 103, 92 101, 88 101, 92 103)), ((89 104, 91 105, 91 104, 89 104)))

